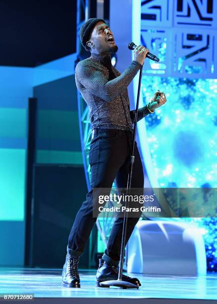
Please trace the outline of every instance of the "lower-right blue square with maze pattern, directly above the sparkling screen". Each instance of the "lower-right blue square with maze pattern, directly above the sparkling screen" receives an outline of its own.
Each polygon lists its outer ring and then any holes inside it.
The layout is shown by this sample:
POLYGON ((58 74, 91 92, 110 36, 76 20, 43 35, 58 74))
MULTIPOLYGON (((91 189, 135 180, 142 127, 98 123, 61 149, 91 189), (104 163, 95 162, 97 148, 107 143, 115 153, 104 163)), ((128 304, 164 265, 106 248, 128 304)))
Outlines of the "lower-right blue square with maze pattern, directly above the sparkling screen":
POLYGON ((174 64, 171 76, 216 78, 217 31, 173 29, 174 64))

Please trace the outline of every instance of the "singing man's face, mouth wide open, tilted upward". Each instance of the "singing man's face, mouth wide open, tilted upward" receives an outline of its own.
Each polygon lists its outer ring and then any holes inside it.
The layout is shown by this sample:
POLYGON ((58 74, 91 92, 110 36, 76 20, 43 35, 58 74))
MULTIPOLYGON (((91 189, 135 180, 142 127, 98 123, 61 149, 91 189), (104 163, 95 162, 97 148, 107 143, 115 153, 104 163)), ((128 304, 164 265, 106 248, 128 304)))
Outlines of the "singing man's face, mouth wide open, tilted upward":
POLYGON ((109 26, 103 21, 96 23, 89 41, 93 42, 95 49, 100 54, 117 52, 117 46, 115 44, 113 34, 109 26))

